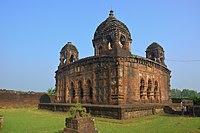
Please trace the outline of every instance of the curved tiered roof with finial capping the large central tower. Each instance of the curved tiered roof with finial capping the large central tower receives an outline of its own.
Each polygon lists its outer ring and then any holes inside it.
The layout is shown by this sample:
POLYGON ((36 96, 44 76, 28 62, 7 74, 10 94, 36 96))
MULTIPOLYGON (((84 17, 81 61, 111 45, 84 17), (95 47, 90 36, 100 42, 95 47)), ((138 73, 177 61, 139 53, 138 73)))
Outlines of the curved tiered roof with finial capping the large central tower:
POLYGON ((97 27, 94 39, 100 39, 101 37, 106 36, 106 33, 110 33, 112 31, 120 31, 126 35, 127 39, 131 40, 131 34, 127 26, 116 19, 113 11, 111 10, 109 17, 97 27))

